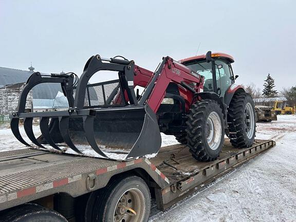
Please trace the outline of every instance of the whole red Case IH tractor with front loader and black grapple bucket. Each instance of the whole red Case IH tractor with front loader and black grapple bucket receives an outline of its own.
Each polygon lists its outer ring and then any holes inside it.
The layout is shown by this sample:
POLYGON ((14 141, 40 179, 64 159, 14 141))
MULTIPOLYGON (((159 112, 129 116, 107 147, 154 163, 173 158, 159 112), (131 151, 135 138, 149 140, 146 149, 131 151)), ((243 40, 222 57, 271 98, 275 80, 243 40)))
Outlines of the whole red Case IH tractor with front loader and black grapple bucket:
POLYGON ((224 53, 200 55, 180 62, 164 57, 155 72, 126 59, 91 57, 81 77, 74 73, 35 72, 24 87, 11 130, 22 143, 18 122, 24 119, 29 139, 48 149, 64 151, 64 145, 85 155, 87 144, 100 156, 126 154, 124 159, 155 154, 161 145, 160 132, 175 135, 187 144, 193 157, 210 161, 219 156, 224 133, 235 147, 249 147, 255 136, 254 104, 242 86, 235 85, 231 63, 224 53), (89 84, 101 70, 118 72, 118 80, 89 84), (25 113, 29 91, 41 83, 60 83, 68 110, 25 113), (144 87, 135 93, 135 87, 144 87), (35 138, 33 118, 40 118, 42 135, 35 138), (50 121, 50 122, 49 122, 50 121), (77 145, 78 144, 78 145, 77 145))

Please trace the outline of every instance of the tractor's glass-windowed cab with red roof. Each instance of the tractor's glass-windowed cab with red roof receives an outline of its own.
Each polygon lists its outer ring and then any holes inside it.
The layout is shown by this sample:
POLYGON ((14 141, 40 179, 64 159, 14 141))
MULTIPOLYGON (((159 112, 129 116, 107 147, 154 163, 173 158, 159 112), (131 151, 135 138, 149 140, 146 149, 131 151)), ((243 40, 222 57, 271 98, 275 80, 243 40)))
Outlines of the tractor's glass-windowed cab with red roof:
POLYGON ((226 91, 238 77, 233 76, 231 68, 231 63, 234 62, 233 57, 225 53, 208 51, 206 55, 197 55, 180 62, 204 76, 204 91, 212 91, 220 98, 225 97, 226 91))

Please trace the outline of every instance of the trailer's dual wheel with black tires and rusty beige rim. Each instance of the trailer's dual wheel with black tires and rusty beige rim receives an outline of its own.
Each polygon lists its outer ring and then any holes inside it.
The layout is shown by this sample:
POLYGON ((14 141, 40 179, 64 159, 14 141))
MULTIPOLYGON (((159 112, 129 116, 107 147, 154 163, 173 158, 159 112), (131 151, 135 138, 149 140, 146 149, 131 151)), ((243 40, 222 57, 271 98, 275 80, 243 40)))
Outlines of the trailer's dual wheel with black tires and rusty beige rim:
POLYGON ((142 178, 117 177, 107 187, 90 194, 85 221, 148 221, 150 208, 150 191, 142 178))

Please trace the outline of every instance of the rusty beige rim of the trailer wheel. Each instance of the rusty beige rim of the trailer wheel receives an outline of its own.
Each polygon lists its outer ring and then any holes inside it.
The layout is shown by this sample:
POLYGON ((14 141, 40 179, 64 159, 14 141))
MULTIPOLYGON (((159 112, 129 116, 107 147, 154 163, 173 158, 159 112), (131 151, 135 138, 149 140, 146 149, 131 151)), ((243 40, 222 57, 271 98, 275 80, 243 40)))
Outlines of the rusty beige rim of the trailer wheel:
POLYGON ((136 188, 125 191, 117 201, 114 210, 114 222, 143 221, 145 198, 136 188))

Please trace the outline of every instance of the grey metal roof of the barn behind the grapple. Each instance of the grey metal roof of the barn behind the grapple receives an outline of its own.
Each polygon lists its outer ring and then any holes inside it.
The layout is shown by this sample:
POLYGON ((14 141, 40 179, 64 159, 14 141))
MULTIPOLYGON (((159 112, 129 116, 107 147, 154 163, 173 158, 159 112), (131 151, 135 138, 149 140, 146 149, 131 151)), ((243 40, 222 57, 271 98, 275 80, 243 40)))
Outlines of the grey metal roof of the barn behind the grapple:
MULTIPOLYGON (((26 82, 32 72, 0 67, 0 87, 26 82)), ((58 91, 62 91, 61 85, 58 83, 43 83, 33 88, 34 99, 54 99, 58 91)))

